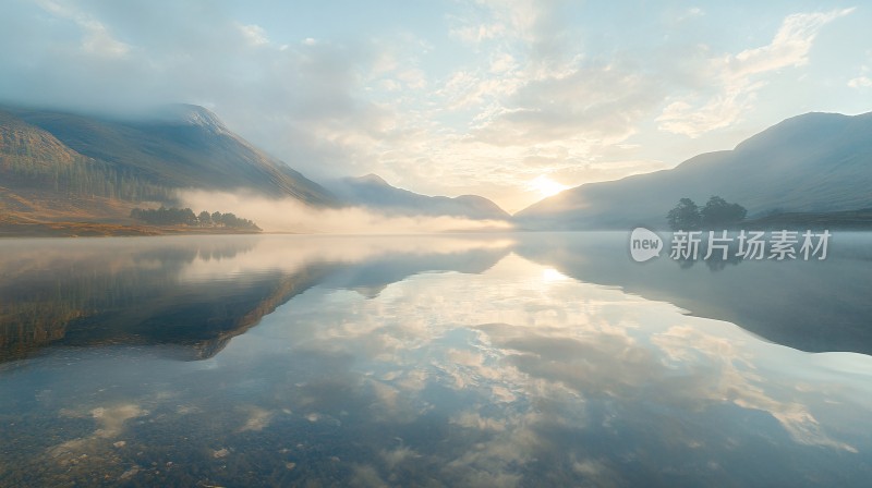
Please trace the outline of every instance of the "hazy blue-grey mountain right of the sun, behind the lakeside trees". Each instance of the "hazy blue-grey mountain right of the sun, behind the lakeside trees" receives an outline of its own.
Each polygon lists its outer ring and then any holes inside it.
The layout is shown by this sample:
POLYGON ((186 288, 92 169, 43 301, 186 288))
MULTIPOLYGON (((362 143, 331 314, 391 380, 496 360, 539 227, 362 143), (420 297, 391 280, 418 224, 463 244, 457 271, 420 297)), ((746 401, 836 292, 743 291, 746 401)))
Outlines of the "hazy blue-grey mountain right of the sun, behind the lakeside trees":
POLYGON ((807 113, 675 169, 567 190, 516 213, 523 229, 664 228, 679 198, 712 195, 749 217, 872 207, 872 112, 807 113))

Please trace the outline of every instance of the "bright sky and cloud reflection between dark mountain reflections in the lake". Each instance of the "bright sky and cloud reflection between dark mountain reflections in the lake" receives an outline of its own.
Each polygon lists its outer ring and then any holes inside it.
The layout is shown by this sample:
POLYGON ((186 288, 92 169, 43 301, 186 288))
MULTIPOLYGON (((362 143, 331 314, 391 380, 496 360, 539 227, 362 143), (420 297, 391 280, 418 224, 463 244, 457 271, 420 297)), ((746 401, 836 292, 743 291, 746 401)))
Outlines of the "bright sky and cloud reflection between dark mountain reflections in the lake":
POLYGON ((872 414, 869 356, 768 343, 567 278, 489 237, 444 253, 422 240, 294 248, 287 239, 177 266, 183 282, 203 283, 307 269, 318 248, 340 264, 214 357, 61 350, 0 376, 21 399, 0 400, 0 434, 20 448, 0 464, 38 473, 0 469, 0 481, 84 483, 95 472, 336 486, 868 479, 872 432, 858 426, 872 414), (40 429, 60 434, 34 440, 40 429), (64 446, 88 457, 69 464, 56 455, 64 446))

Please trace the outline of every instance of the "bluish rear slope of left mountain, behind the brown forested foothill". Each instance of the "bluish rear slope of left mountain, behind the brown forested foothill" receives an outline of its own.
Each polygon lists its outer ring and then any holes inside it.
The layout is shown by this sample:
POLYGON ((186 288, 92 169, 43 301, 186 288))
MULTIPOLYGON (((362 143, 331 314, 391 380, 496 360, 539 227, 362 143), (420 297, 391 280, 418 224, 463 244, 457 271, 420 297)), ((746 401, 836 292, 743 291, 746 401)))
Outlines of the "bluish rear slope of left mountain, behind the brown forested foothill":
MULTIPOLYGON (((7 122, 14 119, 20 126, 50 134, 95 171, 111 170, 109 179, 123 174, 168 190, 246 190, 312 206, 337 204, 320 185, 235 135, 202 107, 167 106, 137 120, 44 109, 0 111, 7 122)), ((15 150, 41 150, 33 147, 35 141, 31 143, 15 150)))

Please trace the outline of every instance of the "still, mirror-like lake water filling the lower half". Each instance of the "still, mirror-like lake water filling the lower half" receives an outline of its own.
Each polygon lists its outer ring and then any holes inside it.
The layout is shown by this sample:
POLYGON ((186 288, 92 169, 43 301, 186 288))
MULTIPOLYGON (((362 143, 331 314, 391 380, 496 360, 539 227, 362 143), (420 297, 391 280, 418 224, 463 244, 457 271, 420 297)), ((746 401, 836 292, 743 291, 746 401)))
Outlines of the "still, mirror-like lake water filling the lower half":
POLYGON ((0 241, 0 486, 869 486, 872 235, 0 241))

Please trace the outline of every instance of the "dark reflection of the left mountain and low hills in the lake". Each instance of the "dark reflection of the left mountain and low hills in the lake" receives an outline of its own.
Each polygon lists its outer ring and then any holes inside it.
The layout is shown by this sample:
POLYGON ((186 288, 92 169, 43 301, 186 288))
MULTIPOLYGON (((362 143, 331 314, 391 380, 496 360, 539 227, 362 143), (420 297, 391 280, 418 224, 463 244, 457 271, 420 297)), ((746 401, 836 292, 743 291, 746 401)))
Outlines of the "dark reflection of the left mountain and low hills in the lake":
POLYGON ((387 263, 383 257, 349 268, 341 254, 315 255, 336 240, 301 237, 283 249, 261 246, 247 260, 244 255, 258 242, 232 236, 0 243, 0 362, 49 344, 177 344, 167 352, 207 358, 322 280, 378 290, 427 266, 481 271, 507 252, 504 246, 501 252, 393 256, 387 263), (264 251, 276 261, 256 263, 264 251))

